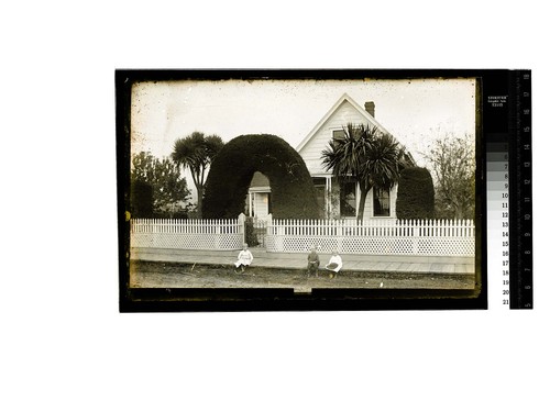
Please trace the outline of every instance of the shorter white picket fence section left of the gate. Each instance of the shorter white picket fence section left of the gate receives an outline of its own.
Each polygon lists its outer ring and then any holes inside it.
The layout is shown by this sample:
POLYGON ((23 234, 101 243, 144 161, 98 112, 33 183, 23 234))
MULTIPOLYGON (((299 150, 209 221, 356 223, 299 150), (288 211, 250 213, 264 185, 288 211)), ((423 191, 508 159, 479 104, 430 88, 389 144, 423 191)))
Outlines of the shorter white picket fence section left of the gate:
POLYGON ((131 247, 235 250, 244 243, 244 215, 239 219, 133 219, 131 247))

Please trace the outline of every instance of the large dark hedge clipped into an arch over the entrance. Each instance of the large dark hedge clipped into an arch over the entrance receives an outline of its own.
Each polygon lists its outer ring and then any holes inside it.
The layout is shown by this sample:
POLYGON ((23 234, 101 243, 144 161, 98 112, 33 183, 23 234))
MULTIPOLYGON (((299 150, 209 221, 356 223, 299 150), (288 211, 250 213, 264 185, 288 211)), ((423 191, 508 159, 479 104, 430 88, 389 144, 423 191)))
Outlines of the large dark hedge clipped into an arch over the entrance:
POLYGON ((304 159, 283 138, 270 134, 235 137, 218 153, 205 185, 202 216, 232 219, 242 213, 255 171, 270 179, 274 218, 319 218, 315 187, 304 159))

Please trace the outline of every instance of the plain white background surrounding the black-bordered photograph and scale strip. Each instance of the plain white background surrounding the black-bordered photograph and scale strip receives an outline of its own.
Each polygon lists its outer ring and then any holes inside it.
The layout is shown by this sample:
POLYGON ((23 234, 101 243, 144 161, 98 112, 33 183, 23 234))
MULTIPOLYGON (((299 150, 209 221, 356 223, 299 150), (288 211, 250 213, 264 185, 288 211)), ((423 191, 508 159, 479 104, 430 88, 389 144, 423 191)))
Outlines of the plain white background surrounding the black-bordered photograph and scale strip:
POLYGON ((550 70, 531 3, 4 7, 0 409, 542 410, 550 70), (536 309, 119 314, 114 69, 233 67, 531 68, 536 309))

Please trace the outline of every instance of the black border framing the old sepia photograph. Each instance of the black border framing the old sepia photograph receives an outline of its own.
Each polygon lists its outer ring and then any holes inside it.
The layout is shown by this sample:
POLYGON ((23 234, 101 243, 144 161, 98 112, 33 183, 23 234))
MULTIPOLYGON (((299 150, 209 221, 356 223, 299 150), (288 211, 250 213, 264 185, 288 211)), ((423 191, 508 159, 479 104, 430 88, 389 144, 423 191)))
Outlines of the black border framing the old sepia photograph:
MULTIPOLYGON (((119 231, 120 312, 232 311, 361 311, 361 310, 484 310, 487 309, 486 153, 484 136, 503 125, 483 99, 512 91, 507 69, 116 69, 116 134, 119 231), (131 288, 130 224, 127 221, 130 185, 130 111, 132 85, 170 80, 354 80, 354 79, 476 78, 476 213, 475 280, 472 290, 455 289, 217 289, 131 288), (481 229, 481 230, 480 230, 481 229)), ((512 234, 512 233, 510 233, 512 234)))

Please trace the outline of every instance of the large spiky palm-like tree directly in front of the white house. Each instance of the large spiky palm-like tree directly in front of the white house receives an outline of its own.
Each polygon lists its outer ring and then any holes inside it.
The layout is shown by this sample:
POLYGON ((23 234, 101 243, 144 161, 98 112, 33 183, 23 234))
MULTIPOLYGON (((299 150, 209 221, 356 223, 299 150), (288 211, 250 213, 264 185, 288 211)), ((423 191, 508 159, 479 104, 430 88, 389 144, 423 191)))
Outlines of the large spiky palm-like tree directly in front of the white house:
POLYGON ((349 177, 358 179, 361 191, 358 222, 362 222, 369 191, 373 187, 392 189, 400 170, 415 163, 404 146, 376 126, 349 123, 343 131, 342 137, 329 143, 321 158, 324 168, 341 181, 349 177))

